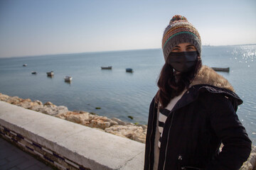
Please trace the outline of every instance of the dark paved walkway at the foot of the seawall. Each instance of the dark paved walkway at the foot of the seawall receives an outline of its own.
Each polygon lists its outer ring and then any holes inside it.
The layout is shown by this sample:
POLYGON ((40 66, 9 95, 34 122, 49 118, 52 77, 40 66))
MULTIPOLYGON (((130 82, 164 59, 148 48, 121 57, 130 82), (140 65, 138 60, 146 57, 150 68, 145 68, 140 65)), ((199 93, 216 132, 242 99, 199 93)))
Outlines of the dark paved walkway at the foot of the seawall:
POLYGON ((1 170, 51 170, 49 166, 31 157, 30 154, 23 152, 11 143, 0 137, 0 169, 1 170))

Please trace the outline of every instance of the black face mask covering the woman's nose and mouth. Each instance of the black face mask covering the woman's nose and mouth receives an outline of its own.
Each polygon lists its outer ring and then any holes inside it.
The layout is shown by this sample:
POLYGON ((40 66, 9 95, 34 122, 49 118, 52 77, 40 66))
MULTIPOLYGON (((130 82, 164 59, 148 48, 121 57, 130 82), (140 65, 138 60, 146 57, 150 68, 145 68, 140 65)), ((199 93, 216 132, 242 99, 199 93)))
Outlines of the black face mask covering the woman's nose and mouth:
POLYGON ((167 63, 178 72, 189 72, 196 65, 198 52, 171 52, 167 63))

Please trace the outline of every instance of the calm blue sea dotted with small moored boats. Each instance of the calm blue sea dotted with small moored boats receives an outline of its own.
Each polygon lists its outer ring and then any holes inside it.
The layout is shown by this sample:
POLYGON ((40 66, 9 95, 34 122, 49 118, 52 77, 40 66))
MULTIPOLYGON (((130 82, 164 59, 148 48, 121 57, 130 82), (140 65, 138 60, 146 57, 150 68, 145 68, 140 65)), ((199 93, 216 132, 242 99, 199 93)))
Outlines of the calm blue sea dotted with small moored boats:
MULTIPOLYGON (((242 98, 238 118, 256 144, 256 45, 203 46, 201 58, 209 67, 230 67, 218 73, 242 98)), ((146 125, 163 64, 161 49, 1 58, 0 93, 146 125)))

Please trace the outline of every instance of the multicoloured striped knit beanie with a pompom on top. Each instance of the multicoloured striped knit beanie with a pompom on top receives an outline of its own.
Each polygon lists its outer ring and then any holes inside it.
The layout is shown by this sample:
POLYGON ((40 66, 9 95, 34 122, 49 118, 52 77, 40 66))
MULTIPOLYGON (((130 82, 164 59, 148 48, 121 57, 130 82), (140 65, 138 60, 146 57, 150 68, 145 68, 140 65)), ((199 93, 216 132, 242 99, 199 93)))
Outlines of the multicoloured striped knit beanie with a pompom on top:
POLYGON ((167 60, 171 50, 178 44, 191 43, 201 57, 201 38, 196 28, 188 23, 184 16, 176 15, 171 18, 169 26, 164 30, 162 49, 164 52, 164 60, 167 60))

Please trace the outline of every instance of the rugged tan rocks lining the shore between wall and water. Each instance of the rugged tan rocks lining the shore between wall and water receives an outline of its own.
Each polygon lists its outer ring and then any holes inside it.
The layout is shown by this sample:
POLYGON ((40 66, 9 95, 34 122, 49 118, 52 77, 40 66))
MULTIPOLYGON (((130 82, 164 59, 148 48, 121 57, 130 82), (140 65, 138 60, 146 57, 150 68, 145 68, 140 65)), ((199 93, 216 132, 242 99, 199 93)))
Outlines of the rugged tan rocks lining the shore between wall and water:
MULTIPOLYGON (((53 115, 57 118, 79 123, 90 128, 97 128, 105 132, 112 133, 121 137, 127 137, 137 142, 145 143, 147 125, 135 125, 127 123, 117 118, 107 118, 105 116, 88 113, 85 111, 68 111, 65 106, 55 106, 53 103, 41 101, 31 101, 31 99, 11 97, 0 93, 0 101, 28 108, 33 111, 38 111, 48 115, 53 115)), ((252 152, 247 162, 243 164, 240 170, 256 170, 256 147, 252 146, 252 152)))

